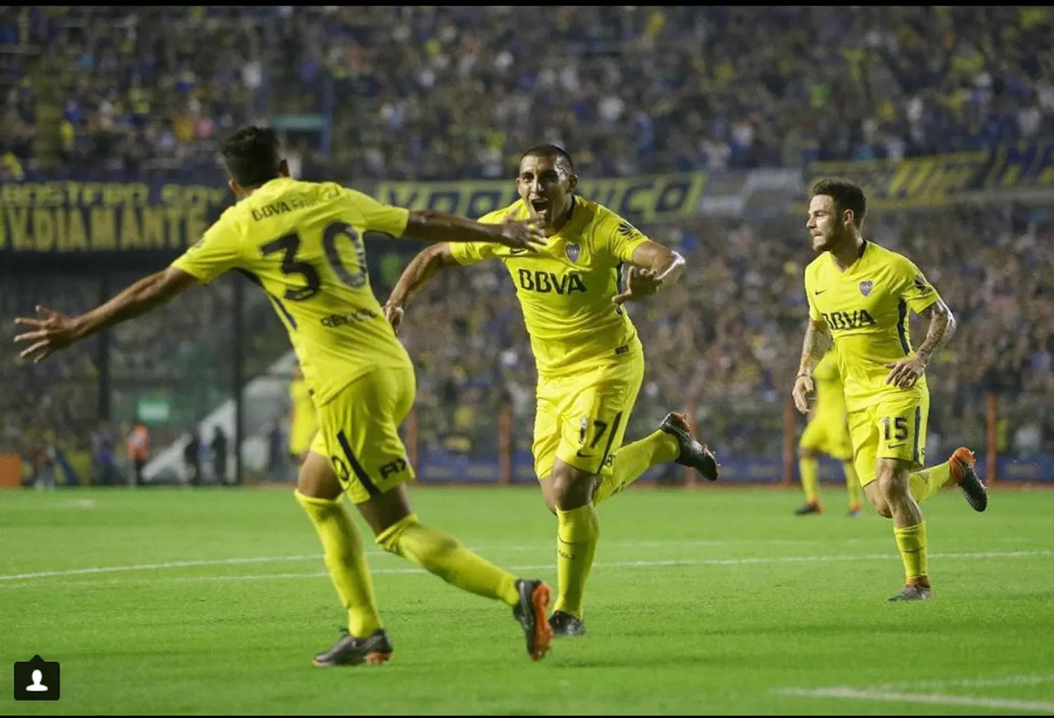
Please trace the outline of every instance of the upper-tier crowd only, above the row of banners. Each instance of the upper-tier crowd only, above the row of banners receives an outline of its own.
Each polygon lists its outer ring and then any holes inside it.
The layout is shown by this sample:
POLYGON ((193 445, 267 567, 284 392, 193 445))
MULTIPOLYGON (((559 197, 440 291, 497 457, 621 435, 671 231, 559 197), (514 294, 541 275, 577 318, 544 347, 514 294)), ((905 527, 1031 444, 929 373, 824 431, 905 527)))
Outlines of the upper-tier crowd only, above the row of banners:
POLYGON ((332 153, 297 163, 357 179, 506 176, 539 141, 591 176, 937 154, 1054 134, 1052 35, 1017 6, 8 6, 0 154, 189 171, 313 113, 332 153))

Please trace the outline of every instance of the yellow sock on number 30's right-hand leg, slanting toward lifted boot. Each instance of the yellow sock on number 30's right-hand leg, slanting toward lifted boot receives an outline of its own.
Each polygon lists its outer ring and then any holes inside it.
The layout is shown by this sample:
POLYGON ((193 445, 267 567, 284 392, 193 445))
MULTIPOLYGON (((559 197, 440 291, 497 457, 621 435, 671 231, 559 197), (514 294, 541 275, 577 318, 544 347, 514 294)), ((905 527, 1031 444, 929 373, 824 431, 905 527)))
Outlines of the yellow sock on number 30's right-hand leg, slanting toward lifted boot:
POLYGON ((413 561, 463 590, 497 599, 510 606, 520 603, 512 574, 465 548, 453 537, 422 526, 414 513, 389 526, 376 542, 386 551, 413 561))

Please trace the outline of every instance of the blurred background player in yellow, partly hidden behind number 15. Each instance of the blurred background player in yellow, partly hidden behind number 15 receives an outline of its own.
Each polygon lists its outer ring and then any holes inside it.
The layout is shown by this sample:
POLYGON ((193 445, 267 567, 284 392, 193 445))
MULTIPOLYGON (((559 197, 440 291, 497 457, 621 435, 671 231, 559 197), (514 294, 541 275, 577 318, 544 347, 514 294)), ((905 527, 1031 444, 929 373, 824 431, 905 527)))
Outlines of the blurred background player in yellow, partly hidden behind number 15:
POLYGON ((838 357, 828 351, 813 370, 816 384, 816 405, 799 443, 798 466, 801 485, 805 489, 805 503, 795 513, 822 513, 820 503, 820 467, 816 454, 825 453, 842 462, 845 488, 850 494, 850 516, 860 512, 860 479, 853 468, 853 443, 845 424, 845 397, 842 380, 838 373, 838 357))

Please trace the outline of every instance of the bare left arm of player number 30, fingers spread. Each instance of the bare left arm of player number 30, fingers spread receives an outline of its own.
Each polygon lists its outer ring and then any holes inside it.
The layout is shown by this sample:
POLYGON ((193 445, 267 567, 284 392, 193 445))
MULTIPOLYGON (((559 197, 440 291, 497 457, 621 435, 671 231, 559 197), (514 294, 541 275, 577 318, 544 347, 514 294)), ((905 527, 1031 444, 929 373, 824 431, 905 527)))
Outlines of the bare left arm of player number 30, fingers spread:
POLYGON ((21 352, 23 357, 41 362, 60 349, 161 306, 194 284, 197 284, 195 277, 169 267, 139 279, 105 304, 79 316, 66 316, 38 306, 41 318, 20 316, 15 319, 17 325, 32 328, 16 336, 15 342, 30 344, 21 352))

